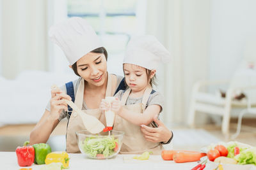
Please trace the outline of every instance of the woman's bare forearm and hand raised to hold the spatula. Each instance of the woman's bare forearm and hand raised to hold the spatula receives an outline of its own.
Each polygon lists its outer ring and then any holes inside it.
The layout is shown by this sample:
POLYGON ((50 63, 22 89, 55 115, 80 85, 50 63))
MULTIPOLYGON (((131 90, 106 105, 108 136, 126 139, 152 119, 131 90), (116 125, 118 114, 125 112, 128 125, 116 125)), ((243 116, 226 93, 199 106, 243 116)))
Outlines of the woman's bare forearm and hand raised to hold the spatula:
POLYGON ((58 118, 62 110, 67 110, 67 103, 63 99, 71 100, 70 96, 63 94, 60 89, 51 91, 51 111, 45 110, 44 115, 30 133, 31 145, 46 143, 51 132, 60 122, 58 118))

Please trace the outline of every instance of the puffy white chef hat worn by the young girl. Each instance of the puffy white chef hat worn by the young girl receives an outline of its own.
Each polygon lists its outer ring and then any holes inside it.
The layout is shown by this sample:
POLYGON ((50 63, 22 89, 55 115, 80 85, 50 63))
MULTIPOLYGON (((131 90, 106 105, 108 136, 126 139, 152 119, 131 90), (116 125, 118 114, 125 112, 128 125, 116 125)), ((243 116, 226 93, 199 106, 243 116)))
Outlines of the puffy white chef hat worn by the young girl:
POLYGON ((170 59, 170 52, 154 36, 145 35, 131 38, 123 63, 135 64, 152 70, 157 69, 161 62, 169 62, 170 59))

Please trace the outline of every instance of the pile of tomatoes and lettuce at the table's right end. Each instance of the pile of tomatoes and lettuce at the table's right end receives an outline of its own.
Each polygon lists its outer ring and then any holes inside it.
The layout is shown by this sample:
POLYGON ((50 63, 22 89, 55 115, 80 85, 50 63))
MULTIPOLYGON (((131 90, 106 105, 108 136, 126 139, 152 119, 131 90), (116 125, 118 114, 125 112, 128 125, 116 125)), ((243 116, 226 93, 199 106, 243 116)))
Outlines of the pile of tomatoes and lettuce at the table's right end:
POLYGON ((256 166, 256 148, 231 141, 207 147, 209 160, 223 164, 254 164, 256 166))

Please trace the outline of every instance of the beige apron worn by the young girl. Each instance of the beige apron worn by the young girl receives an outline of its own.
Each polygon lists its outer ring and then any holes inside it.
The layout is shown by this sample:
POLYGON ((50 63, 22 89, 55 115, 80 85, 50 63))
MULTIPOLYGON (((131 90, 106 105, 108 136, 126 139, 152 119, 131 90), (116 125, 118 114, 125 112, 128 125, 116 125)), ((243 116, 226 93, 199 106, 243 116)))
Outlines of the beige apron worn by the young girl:
MULTIPOLYGON (((131 92, 131 89, 128 89, 124 92, 121 103, 127 110, 135 111, 138 114, 143 114, 151 91, 152 88, 150 87, 145 90, 142 98, 142 103, 125 105, 127 98, 131 92)), ((152 124, 150 124, 149 126, 153 127, 152 124)), ((125 120, 124 118, 116 115, 113 130, 125 132, 123 145, 120 153, 141 154, 146 151, 152 151, 154 155, 161 154, 161 150, 163 149, 161 143, 153 143, 147 141, 144 138, 139 125, 134 125, 131 122, 125 120)))

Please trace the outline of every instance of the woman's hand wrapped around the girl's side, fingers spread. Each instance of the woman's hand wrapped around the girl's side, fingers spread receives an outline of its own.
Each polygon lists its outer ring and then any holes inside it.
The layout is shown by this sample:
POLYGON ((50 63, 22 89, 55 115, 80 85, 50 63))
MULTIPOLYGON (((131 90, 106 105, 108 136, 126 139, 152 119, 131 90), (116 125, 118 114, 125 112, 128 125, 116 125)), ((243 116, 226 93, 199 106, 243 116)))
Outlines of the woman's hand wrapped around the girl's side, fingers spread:
POLYGON ((170 131, 157 117, 154 118, 154 122, 158 127, 148 127, 147 125, 141 125, 141 132, 143 132, 144 138, 147 141, 154 143, 163 142, 166 143, 172 137, 172 131, 170 131))

